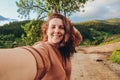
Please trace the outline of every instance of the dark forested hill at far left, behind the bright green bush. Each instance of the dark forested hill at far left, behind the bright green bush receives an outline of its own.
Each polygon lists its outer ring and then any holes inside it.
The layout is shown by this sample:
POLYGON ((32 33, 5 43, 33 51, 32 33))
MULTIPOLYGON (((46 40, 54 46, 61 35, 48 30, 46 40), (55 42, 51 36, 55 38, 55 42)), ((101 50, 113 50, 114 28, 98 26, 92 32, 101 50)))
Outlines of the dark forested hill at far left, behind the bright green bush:
POLYGON ((0 26, 0 35, 14 34, 15 37, 21 37, 21 35, 24 33, 21 25, 25 25, 28 22, 29 20, 14 21, 10 22, 9 24, 4 24, 3 26, 0 26))

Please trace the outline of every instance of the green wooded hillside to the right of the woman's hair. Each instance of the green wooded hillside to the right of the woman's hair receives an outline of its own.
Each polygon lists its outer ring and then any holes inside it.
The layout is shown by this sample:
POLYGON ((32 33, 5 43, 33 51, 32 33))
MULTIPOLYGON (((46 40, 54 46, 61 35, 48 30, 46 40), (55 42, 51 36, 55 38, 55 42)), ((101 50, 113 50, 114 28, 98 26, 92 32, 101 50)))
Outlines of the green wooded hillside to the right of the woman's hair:
POLYGON ((83 35, 83 44, 98 45, 110 36, 120 34, 120 18, 73 23, 83 35))

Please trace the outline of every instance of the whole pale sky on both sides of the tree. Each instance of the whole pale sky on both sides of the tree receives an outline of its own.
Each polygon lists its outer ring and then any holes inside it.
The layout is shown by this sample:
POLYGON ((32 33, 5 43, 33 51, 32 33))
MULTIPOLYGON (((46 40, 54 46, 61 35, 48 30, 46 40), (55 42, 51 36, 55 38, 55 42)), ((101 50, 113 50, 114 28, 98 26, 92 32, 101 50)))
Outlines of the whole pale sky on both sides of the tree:
MULTIPOLYGON (((6 18, 22 20, 17 13, 15 2, 19 0, 1 0, 0 15, 6 18)), ((85 12, 76 12, 70 16, 72 22, 89 20, 105 20, 120 18, 120 0, 89 0, 84 9, 85 12)), ((34 18, 34 16, 32 16, 34 18)))

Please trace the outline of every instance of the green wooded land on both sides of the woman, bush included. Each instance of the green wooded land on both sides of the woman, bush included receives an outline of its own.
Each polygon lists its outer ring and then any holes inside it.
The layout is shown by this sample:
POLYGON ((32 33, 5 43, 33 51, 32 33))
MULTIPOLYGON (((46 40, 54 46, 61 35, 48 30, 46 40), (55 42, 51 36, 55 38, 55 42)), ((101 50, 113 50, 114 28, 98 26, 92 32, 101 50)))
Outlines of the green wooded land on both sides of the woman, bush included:
MULTIPOLYGON (((10 22, 0 26, 0 48, 33 45, 41 39, 42 20, 10 22)), ((91 20, 73 23, 83 36, 82 46, 120 41, 120 19, 91 20)))

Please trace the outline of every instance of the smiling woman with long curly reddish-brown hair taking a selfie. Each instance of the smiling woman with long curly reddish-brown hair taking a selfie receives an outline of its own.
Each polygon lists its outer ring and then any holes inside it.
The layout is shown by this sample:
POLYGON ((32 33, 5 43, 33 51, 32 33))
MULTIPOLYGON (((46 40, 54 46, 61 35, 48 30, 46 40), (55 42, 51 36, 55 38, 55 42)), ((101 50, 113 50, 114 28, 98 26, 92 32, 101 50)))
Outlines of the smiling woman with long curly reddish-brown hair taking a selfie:
POLYGON ((0 80, 70 80, 80 33, 59 13, 49 16, 42 32, 42 41, 33 46, 0 50, 0 80))

